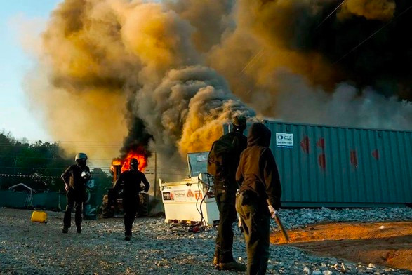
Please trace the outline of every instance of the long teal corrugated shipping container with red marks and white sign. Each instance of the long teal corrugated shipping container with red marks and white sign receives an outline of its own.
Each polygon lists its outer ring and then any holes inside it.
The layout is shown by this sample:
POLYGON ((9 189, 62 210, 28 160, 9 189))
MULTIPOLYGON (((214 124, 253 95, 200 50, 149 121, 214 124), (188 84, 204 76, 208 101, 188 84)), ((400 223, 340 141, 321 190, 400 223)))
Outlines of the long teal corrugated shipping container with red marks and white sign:
POLYGON ((263 123, 272 132, 283 206, 412 203, 412 131, 263 123))

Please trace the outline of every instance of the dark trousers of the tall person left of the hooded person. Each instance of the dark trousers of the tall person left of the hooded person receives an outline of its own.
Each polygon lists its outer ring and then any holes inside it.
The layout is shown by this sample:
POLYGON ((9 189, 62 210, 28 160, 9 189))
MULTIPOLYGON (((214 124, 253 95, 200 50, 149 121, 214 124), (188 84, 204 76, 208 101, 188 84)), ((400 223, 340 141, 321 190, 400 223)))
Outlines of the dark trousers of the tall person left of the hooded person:
POLYGON ((216 236, 215 257, 219 262, 233 262, 233 229, 232 224, 236 221, 236 193, 217 192, 215 194, 216 203, 219 209, 218 236, 216 236))

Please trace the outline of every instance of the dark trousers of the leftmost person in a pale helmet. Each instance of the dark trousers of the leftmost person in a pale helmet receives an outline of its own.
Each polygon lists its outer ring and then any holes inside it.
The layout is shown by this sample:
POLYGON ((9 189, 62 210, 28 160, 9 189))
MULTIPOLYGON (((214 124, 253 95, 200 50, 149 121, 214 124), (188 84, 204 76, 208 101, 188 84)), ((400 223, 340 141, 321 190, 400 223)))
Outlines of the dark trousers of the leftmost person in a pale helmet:
POLYGON ((83 208, 83 201, 86 196, 86 191, 77 191, 75 189, 69 188, 66 193, 67 206, 65 211, 65 217, 63 217, 63 226, 70 228, 72 224, 72 211, 74 209, 74 222, 76 227, 81 226, 81 210, 83 208))

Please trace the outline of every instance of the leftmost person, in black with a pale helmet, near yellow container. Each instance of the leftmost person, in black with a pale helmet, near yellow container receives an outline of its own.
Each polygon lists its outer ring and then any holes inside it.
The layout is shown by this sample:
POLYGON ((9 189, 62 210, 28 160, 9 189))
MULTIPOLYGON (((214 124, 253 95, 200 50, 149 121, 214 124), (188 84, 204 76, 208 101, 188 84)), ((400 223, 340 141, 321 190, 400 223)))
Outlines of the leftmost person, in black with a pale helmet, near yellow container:
POLYGON ((62 233, 69 232, 73 209, 75 211, 74 222, 76 223, 77 233, 81 233, 81 210, 86 199, 86 183, 91 179, 90 169, 86 166, 87 155, 79 153, 76 155, 75 161, 76 164, 69 166, 62 174, 67 196, 62 233))

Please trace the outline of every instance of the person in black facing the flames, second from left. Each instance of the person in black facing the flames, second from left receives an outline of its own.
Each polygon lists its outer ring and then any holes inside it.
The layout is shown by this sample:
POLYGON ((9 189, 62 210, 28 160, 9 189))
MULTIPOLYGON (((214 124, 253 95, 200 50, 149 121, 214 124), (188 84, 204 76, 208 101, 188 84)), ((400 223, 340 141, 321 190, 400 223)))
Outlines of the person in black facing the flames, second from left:
POLYGON ((123 187, 123 209, 124 209, 124 240, 130 241, 132 236, 133 222, 138 211, 139 193, 143 189, 149 191, 150 184, 144 173, 138 170, 139 161, 131 159, 129 170, 124 171, 114 185, 114 191, 119 193, 123 187), (142 187, 141 185, 144 185, 142 187))

